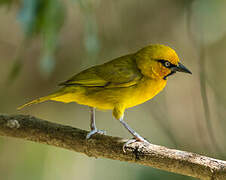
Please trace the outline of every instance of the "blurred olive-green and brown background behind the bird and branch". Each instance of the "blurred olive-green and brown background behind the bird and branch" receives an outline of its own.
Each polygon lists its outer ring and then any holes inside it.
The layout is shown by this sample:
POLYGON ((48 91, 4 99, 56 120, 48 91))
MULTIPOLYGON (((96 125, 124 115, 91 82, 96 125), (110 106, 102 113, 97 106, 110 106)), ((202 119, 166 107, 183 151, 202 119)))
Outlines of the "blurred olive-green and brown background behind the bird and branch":
MULTIPOLYGON (((0 0, 0 112, 88 130, 88 107, 76 103, 16 108, 91 65, 165 44, 193 75, 170 77, 125 120, 154 144, 225 160, 225 21, 225 0, 0 0)), ((107 134, 130 137, 111 112, 96 116, 107 134)), ((192 178, 1 137, 0 180, 28 179, 192 178)))

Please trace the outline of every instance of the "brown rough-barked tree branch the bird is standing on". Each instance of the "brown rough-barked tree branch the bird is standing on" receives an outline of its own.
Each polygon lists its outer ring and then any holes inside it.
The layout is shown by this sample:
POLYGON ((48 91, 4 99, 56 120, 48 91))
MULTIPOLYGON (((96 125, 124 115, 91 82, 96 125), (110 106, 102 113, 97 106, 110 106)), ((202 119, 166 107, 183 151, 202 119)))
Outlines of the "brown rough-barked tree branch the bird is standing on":
POLYGON ((226 161, 141 142, 123 152, 125 139, 87 131, 25 115, 0 115, 0 135, 53 145, 93 157, 133 162, 205 180, 225 180, 226 161))

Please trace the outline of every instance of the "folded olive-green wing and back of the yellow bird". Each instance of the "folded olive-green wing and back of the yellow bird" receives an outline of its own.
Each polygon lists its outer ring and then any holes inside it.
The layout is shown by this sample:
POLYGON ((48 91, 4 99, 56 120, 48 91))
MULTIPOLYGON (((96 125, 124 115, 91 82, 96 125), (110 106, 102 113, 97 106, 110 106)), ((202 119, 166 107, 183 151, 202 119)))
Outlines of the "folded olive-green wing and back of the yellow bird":
POLYGON ((128 87, 136 84, 141 78, 142 74, 132 55, 127 55, 84 70, 60 85, 128 87))

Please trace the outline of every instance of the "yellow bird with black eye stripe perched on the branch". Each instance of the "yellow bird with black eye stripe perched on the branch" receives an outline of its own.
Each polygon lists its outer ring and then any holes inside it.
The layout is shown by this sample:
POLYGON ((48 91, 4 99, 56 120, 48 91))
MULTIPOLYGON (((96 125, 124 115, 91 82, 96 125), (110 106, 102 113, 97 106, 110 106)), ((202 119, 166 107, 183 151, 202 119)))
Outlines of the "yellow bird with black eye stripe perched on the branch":
POLYGON ((87 139, 95 133, 104 133, 96 128, 95 108, 112 110, 113 116, 135 140, 147 142, 123 120, 124 111, 152 99, 166 86, 168 77, 177 71, 191 74, 179 62, 173 49, 165 45, 149 45, 135 53, 88 68, 60 83, 62 88, 55 93, 18 109, 47 100, 87 105, 91 109, 91 131, 87 139))

